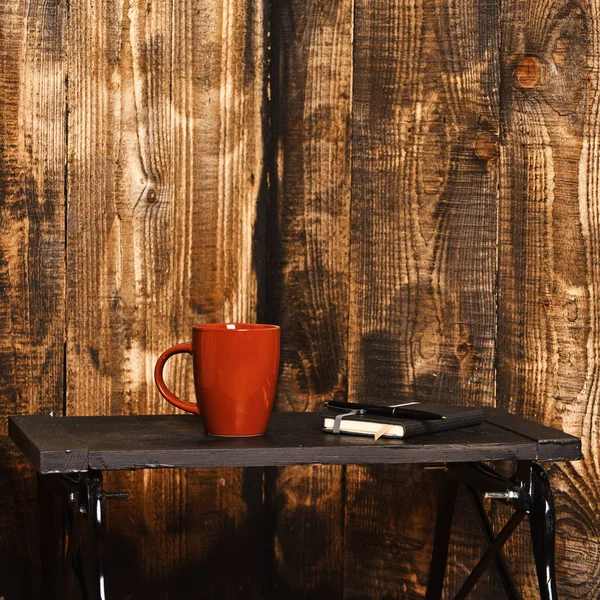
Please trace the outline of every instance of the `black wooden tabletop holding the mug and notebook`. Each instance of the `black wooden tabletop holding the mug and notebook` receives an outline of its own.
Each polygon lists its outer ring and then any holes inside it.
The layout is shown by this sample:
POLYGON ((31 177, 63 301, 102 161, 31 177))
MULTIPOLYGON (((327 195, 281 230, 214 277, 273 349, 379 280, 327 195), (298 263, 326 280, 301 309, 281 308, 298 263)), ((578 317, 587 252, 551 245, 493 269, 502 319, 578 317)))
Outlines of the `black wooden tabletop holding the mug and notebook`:
POLYGON ((193 415, 11 417, 9 435, 41 473, 148 468, 577 460, 581 442, 504 410, 477 427, 392 440, 321 431, 321 413, 275 413, 264 436, 204 434, 193 415))

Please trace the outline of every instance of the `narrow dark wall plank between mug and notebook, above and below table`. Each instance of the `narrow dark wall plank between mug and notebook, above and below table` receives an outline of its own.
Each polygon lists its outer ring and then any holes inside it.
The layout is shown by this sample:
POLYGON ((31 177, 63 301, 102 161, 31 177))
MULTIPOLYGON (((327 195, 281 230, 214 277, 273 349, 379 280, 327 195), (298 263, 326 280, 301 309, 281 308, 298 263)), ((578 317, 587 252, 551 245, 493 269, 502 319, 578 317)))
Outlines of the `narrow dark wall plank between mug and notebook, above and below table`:
MULTIPOLYGON (((265 317, 282 332, 277 410, 322 407, 347 386, 352 20, 353 0, 272 3, 265 317)), ((343 470, 269 470, 266 486, 266 597, 341 597, 343 470)))

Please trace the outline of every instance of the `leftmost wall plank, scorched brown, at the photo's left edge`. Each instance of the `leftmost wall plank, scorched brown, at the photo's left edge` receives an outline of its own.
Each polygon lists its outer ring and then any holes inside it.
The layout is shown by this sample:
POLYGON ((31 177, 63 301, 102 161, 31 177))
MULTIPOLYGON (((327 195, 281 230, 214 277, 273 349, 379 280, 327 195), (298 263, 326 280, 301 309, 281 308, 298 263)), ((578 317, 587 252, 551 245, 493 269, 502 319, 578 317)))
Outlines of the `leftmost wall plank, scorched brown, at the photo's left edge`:
MULTIPOLYGON (((66 7, 0 1, 0 436, 64 399, 66 7)), ((35 597, 35 474, 0 441, 0 596, 35 597)))

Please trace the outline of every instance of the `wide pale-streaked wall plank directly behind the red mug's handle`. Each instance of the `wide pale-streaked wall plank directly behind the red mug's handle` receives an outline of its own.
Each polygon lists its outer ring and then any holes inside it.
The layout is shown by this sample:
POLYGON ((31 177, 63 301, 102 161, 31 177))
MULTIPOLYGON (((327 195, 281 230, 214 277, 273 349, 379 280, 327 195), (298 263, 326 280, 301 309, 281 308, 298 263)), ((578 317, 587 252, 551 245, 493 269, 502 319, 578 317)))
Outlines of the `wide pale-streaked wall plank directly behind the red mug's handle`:
MULTIPOLYGON (((174 412, 152 381, 159 353, 189 339, 195 322, 254 320, 264 28, 258 0, 71 5, 69 414, 174 412)), ((193 397, 185 358, 171 361, 167 379, 193 397)), ((111 560, 126 559, 126 549, 136 563, 114 582, 119 596, 166 597, 160 586, 176 587, 184 572, 198 594, 218 583, 225 596, 251 595, 244 569, 236 579, 191 567, 209 556, 225 523, 244 537, 250 525, 238 508, 261 501, 255 487, 244 491, 243 473, 215 476, 107 478, 107 488, 128 489, 132 498, 127 514, 108 512, 111 560), (216 491, 203 499, 221 478, 231 502, 216 491), (206 525, 188 536, 201 501, 206 525)))

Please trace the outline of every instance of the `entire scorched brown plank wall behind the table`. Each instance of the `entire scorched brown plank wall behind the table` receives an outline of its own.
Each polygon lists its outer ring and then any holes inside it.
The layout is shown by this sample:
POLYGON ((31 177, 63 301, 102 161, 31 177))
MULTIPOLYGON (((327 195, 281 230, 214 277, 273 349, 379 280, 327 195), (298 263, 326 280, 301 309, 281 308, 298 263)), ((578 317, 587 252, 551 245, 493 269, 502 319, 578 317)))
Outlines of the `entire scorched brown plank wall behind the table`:
MULTIPOLYGON (((152 368, 192 323, 279 323, 278 410, 435 397, 582 436, 549 472, 561 597, 596 599, 599 139, 595 0, 0 0, 0 435, 168 412, 152 368)), ((424 594, 416 468, 108 479, 110 598, 424 594)), ((0 437, 5 600, 39 592, 35 494, 0 437)), ((450 590, 483 548, 457 524, 450 590)), ((535 598, 526 527, 507 554, 535 598)))

